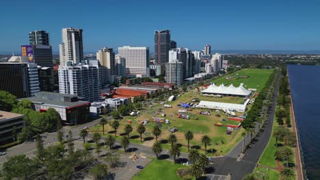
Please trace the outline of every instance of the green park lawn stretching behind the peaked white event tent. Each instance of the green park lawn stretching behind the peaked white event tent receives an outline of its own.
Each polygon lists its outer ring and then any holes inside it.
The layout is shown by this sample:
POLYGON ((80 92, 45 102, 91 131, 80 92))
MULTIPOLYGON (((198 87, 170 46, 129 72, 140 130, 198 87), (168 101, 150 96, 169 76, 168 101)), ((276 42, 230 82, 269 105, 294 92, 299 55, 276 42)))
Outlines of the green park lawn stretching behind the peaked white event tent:
POLYGON ((215 82, 215 85, 220 85, 224 83, 228 85, 232 84, 235 87, 239 87, 239 85, 243 83, 243 87, 245 87, 246 89, 253 88, 253 89, 257 89, 257 91, 260 92, 261 89, 265 87, 265 83, 267 82, 272 72, 273 70, 244 69, 228 75, 228 77, 233 76, 232 80, 226 80, 226 77, 224 76, 217 80, 213 80, 213 82, 215 82), (239 76, 250 76, 250 77, 239 78, 239 76))

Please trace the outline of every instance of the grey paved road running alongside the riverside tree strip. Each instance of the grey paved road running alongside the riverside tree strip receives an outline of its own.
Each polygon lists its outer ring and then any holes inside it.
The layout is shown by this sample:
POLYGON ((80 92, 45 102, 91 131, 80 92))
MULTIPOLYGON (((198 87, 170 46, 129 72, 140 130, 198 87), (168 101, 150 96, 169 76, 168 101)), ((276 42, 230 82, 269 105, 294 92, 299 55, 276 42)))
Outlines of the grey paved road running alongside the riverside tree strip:
MULTIPOLYGON (((268 110, 267 124, 263 128, 263 132, 256 136, 256 141, 252 143, 251 147, 245 152, 241 159, 237 157, 241 153, 242 140, 226 156, 215 158, 214 164, 211 165, 213 172, 209 175, 210 179, 226 179, 226 176, 228 175, 231 176, 231 179, 241 179, 245 175, 253 172, 271 136, 278 89, 279 78, 277 79, 276 87, 274 88, 274 97, 268 110)), ((248 137, 245 138, 245 141, 249 142, 248 137)))

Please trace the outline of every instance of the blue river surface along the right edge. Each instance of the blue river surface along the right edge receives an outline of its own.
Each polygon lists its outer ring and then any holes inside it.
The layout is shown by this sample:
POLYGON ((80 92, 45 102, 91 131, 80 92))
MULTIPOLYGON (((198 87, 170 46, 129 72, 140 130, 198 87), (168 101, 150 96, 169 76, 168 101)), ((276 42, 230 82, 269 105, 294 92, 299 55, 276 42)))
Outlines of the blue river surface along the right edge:
POLYGON ((320 66, 287 67, 306 175, 320 179, 320 66))

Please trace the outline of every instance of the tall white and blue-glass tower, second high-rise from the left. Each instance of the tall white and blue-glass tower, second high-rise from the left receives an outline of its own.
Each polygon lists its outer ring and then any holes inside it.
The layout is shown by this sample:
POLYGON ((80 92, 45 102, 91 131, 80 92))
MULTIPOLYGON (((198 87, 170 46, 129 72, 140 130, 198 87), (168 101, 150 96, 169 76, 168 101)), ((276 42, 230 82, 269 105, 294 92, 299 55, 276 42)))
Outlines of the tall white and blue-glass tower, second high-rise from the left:
POLYGON ((83 60, 82 29, 72 27, 62 29, 62 44, 59 44, 60 65, 67 61, 81 63, 83 60))

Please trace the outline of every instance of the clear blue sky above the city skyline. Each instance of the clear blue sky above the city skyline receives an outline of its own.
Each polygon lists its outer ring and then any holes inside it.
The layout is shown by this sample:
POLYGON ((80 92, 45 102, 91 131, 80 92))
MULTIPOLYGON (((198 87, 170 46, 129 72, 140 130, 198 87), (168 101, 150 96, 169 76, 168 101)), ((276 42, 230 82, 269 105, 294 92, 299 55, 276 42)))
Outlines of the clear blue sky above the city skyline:
POLYGON ((319 50, 319 0, 31 0, 1 1, 0 51, 20 51, 43 29, 58 51, 61 29, 83 29, 85 52, 148 46, 170 29, 178 46, 201 50, 319 50))

